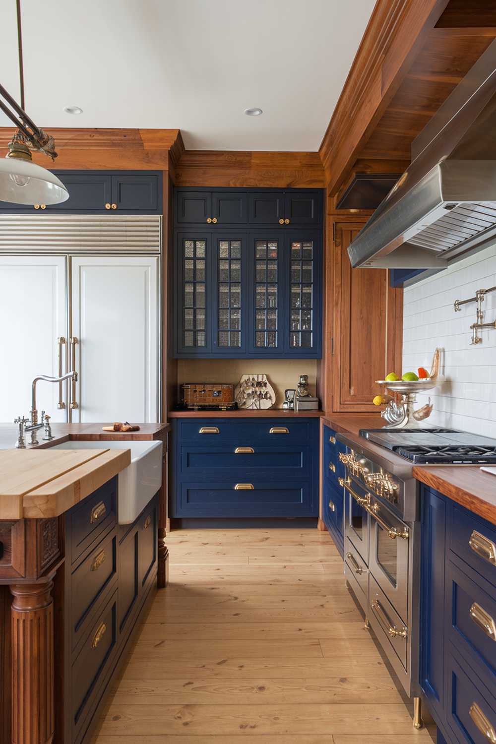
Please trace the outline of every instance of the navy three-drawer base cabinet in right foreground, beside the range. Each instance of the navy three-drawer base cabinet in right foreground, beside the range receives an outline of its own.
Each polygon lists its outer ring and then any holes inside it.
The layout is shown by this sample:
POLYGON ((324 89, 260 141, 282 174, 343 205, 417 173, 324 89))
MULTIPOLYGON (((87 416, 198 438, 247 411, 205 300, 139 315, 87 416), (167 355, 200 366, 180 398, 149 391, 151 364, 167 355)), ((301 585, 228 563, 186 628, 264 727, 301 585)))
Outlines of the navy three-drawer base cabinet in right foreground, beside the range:
POLYGON ((422 487, 420 681, 438 744, 496 739, 495 623, 496 527, 422 487))

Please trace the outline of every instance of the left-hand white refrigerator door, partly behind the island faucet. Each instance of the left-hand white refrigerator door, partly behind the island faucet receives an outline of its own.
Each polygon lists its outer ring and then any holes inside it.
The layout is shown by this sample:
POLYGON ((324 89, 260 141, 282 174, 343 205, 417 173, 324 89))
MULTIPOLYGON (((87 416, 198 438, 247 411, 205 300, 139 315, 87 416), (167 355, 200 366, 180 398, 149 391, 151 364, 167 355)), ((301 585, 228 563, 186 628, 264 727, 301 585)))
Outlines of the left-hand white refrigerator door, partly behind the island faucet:
MULTIPOLYGON (((1 421, 29 415, 33 377, 58 376, 59 348, 66 371, 65 345, 58 343, 67 336, 65 264, 63 256, 0 256, 1 421)), ((65 384, 59 390, 58 384, 38 382, 38 411, 65 421, 65 394, 65 384)))

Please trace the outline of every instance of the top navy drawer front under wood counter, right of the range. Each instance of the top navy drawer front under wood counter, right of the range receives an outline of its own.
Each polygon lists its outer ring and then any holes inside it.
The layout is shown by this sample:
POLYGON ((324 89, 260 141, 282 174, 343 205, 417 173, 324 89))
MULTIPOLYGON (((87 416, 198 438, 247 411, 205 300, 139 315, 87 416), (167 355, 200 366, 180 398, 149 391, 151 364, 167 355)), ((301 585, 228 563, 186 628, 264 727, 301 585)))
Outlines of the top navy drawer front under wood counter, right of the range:
POLYGON ((456 504, 448 520, 449 548, 496 586, 496 528, 456 504))

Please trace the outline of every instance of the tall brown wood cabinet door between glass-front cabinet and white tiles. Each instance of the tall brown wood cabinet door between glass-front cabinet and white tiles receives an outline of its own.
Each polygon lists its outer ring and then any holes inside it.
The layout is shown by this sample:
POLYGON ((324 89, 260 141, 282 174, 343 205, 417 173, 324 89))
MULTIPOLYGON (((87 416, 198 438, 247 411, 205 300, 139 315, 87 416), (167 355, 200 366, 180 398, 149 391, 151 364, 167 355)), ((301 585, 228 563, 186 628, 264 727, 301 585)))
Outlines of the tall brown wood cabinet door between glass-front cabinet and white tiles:
POLYGON ((352 269, 348 257, 363 224, 335 223, 334 411, 377 411, 375 380, 401 369, 402 290, 387 269, 352 269))

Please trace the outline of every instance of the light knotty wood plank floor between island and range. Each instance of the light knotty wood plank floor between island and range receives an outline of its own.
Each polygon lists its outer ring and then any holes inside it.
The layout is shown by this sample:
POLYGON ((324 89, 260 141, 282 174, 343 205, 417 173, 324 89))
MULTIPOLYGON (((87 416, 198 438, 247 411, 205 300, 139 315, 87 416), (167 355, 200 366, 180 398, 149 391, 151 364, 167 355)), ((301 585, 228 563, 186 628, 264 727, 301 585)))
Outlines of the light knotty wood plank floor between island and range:
POLYGON ((431 744, 317 530, 170 534, 95 744, 431 744))

